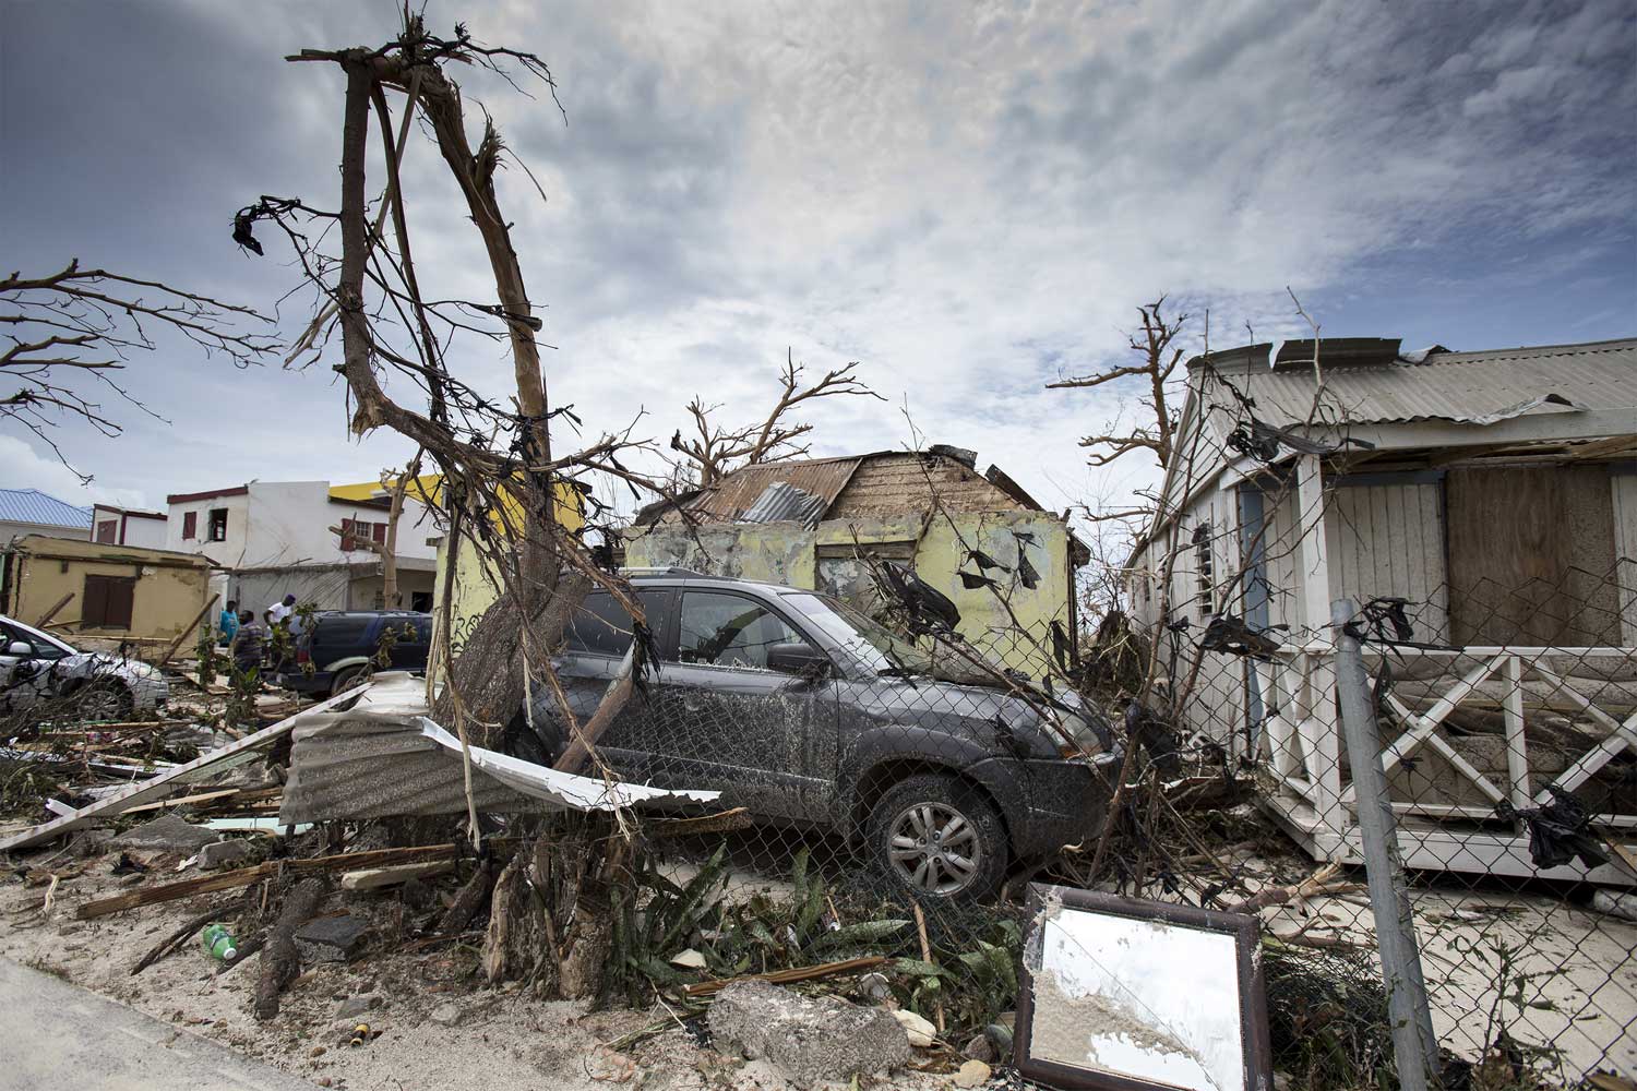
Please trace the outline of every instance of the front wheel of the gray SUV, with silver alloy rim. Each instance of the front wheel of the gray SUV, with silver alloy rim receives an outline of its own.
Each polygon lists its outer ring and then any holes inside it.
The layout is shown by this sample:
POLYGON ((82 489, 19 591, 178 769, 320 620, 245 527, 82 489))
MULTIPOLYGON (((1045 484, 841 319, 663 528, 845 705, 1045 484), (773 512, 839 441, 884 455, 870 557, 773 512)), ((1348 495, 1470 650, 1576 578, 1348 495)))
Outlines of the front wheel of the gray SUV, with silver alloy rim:
POLYGON ((918 901, 987 898, 1007 873, 1000 811, 948 774, 917 774, 882 792, 868 837, 881 873, 918 901))

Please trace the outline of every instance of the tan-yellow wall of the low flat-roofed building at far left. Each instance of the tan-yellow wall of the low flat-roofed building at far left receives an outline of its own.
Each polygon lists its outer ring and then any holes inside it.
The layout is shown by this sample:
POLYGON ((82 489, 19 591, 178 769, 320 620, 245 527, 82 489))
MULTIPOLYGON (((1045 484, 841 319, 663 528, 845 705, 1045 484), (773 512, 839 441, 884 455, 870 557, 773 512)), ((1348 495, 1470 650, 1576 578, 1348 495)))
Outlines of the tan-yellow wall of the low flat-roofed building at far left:
MULTIPOLYGON (((74 599, 52 618, 52 631, 75 643, 142 641, 169 644, 198 617, 210 586, 210 561, 190 553, 111 546, 28 535, 7 558, 7 612, 33 625, 62 595, 74 599), (87 576, 134 576, 131 628, 79 625, 87 576), (61 625, 67 622, 69 625, 61 625)), ((210 618, 206 618, 208 622, 210 618)))

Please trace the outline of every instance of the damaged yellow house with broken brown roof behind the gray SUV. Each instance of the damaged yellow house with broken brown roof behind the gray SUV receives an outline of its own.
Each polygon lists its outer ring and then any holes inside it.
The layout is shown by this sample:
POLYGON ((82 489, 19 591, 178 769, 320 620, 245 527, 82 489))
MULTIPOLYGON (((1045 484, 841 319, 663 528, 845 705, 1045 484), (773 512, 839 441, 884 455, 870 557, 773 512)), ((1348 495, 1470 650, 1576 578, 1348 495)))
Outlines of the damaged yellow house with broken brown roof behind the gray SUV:
POLYGON ((743 466, 655 504, 629 532, 625 563, 825 590, 876 613, 871 559, 948 595, 958 631, 1041 676, 1074 656, 1076 569, 1089 554, 1067 522, 972 451, 873 451, 743 466))

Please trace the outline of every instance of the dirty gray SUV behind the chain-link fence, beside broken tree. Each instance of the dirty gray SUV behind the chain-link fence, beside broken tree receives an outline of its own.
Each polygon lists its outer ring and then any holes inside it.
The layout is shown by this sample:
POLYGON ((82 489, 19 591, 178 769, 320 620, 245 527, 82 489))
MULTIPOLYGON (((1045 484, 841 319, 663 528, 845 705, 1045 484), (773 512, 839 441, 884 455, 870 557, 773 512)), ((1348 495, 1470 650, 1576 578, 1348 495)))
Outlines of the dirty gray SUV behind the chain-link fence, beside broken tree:
MULTIPOLYGON (((920 648, 812 590, 686 569, 630 582, 658 669, 598 743, 624 780, 719 790, 761 823, 861 841, 923 900, 985 896, 1105 813, 1116 756, 1072 694, 943 680, 920 648)), ((553 659, 576 720, 630 628, 609 594, 588 595, 553 659)), ((509 746, 548 762, 563 723, 543 684, 532 697, 509 746)))

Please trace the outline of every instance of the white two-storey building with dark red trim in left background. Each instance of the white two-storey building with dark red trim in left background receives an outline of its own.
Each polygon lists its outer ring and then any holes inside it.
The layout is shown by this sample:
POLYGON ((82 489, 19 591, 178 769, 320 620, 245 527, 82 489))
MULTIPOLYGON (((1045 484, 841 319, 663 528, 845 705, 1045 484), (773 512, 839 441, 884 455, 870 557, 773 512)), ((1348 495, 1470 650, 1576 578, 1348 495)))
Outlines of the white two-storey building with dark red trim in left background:
POLYGON ((437 551, 426 538, 435 532, 416 499, 404 499, 398 522, 393 604, 383 602, 381 558, 365 545, 385 541, 385 496, 342 499, 327 481, 250 481, 167 504, 165 548, 211 558, 229 577, 223 594, 241 608, 260 613, 293 594, 322 610, 431 610, 437 551))

